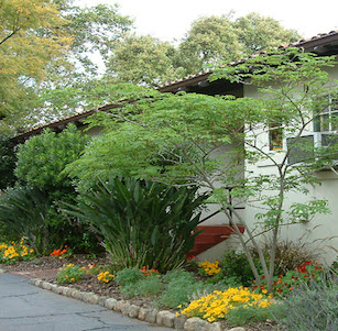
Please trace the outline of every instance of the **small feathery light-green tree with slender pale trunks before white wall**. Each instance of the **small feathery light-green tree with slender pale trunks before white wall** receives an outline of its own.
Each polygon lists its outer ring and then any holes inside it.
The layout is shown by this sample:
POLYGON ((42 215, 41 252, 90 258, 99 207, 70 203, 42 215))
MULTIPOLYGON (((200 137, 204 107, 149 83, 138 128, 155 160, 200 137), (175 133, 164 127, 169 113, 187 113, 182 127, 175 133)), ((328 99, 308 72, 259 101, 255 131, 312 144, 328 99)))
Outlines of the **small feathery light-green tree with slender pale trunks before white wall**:
MULTIPOLYGON (((105 180, 111 175, 176 186, 194 184, 209 190, 214 201, 220 205, 225 221, 236 229, 260 285, 250 247, 259 252, 271 291, 281 227, 328 212, 327 202, 323 200, 295 201, 285 208, 287 192, 306 195, 308 185, 317 181, 316 170, 332 166, 337 154, 334 139, 323 147, 303 140, 309 125, 316 123, 329 106, 326 97, 335 92, 335 82, 323 70, 327 66, 332 66, 332 58, 288 49, 255 57, 238 67, 227 66, 211 76, 211 79, 227 77, 254 85, 263 93, 259 98, 149 90, 146 98, 121 103, 119 110, 92 118, 91 125, 106 128, 105 134, 94 140, 67 172, 77 178, 78 189, 84 191, 92 187, 98 177, 105 180), (271 123, 290 137, 287 150, 271 154, 266 153, 266 144, 259 143, 261 133, 266 133, 271 123), (302 162, 291 163, 293 151, 303 151, 307 156, 302 162), (250 173, 250 165, 258 161, 269 161, 274 172, 270 175, 250 173), (238 214, 231 198, 254 200, 262 206, 258 222, 263 232, 272 235, 268 258, 254 229, 238 214), (238 221, 246 225, 247 238, 240 233, 238 221)), ((328 120, 334 125, 334 118, 328 120)))

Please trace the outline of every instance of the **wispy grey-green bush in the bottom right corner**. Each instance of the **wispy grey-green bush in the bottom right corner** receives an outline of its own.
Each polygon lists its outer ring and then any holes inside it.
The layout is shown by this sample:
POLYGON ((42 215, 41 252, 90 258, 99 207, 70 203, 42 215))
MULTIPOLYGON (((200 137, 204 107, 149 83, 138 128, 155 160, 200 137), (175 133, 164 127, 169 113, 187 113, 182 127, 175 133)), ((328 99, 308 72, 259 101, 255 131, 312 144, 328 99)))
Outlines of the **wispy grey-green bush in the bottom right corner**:
POLYGON ((338 326, 337 297, 337 275, 329 275, 296 287, 272 313, 288 331, 334 331, 338 326))

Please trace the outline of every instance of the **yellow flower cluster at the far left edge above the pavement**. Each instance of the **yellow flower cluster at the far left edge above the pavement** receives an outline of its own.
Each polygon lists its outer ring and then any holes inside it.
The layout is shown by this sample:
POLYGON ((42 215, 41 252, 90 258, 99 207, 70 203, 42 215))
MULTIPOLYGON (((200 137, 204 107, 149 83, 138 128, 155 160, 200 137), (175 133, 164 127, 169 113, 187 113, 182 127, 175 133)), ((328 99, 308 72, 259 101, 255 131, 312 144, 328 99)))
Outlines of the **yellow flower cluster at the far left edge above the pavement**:
POLYGON ((26 261, 33 257, 34 250, 29 249, 24 244, 24 239, 21 239, 19 243, 11 242, 9 244, 0 243, 0 263, 15 263, 18 261, 26 261))

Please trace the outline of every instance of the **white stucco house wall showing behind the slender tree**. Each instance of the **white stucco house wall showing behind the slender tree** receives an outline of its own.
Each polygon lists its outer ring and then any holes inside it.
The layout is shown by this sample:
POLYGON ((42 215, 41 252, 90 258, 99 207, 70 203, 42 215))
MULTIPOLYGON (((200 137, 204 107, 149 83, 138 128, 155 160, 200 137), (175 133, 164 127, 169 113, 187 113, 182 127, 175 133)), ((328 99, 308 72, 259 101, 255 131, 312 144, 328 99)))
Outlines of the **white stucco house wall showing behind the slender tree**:
MULTIPOLYGON (((331 78, 338 79, 338 67, 330 68, 331 78)), ((255 88, 246 86, 246 97, 257 97, 255 88)), ((312 125, 307 128, 312 132, 312 125)), ((264 146, 265 152, 273 155, 275 161, 284 156, 283 151, 269 151, 269 132, 261 130, 259 132, 258 143, 264 146)), ((284 140, 284 148, 285 148, 284 140)), ((276 167, 269 161, 257 164, 246 164, 246 169, 254 174, 270 175, 276 172, 276 167)), ((288 192, 285 199, 285 209, 293 202, 306 202, 313 199, 326 199, 330 209, 330 214, 318 214, 310 222, 304 224, 291 224, 283 227, 281 231, 282 240, 292 240, 304 243, 305 241, 314 249, 314 252, 320 254, 320 260, 332 263, 337 258, 338 252, 338 174, 335 170, 326 169, 317 173, 320 185, 308 186, 308 195, 301 192, 288 192)), ((257 224, 255 214, 261 212, 259 203, 249 203, 246 206, 244 218, 250 228, 257 224)), ((261 238, 264 240, 264 238, 261 238)))

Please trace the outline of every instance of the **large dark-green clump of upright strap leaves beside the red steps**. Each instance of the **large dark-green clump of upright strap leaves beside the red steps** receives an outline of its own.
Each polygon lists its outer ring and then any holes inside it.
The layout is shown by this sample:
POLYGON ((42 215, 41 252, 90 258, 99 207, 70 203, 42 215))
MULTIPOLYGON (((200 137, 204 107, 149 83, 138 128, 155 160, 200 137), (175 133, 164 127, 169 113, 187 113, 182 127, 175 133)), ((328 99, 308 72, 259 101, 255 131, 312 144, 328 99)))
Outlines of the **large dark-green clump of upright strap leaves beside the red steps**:
POLYGON ((115 263, 163 273, 185 262, 206 198, 197 196, 197 187, 110 178, 83 194, 77 207, 66 206, 69 214, 89 222, 105 238, 115 263))

